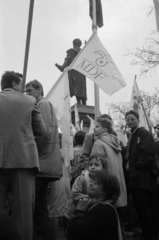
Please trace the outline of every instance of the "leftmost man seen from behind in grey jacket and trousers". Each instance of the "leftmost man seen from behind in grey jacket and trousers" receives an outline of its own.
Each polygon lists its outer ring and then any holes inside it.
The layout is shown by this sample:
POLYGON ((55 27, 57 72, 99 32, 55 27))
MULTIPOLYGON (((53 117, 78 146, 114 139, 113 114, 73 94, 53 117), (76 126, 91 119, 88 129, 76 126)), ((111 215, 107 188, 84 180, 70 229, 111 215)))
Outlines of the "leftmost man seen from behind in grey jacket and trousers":
POLYGON ((18 229, 18 236, 23 240, 32 240, 35 175, 39 171, 34 137, 45 134, 45 124, 35 99, 21 93, 21 74, 5 72, 1 89, 0 210, 6 211, 7 197, 11 191, 11 217, 18 229))

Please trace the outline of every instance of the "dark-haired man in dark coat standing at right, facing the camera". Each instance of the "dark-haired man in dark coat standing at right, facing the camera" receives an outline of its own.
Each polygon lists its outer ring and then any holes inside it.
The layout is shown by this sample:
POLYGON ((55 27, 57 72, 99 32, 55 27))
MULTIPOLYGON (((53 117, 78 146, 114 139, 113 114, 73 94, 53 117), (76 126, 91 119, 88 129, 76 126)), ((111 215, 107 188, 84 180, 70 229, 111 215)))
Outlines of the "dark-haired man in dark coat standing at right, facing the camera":
POLYGON ((127 147, 127 166, 129 171, 128 188, 132 192, 142 234, 145 240, 158 239, 158 216, 155 194, 156 176, 152 171, 155 161, 155 142, 152 134, 139 127, 139 115, 134 110, 126 113, 126 122, 131 129, 127 147))

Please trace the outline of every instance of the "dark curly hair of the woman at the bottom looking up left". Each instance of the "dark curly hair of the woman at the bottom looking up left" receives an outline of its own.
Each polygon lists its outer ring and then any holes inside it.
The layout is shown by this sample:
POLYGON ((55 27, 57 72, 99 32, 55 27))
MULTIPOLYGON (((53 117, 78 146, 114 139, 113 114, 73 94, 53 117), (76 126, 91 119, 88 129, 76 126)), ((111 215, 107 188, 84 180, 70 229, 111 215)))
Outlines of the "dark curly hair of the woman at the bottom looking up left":
POLYGON ((95 180, 97 183, 102 184, 105 200, 112 200, 113 203, 116 203, 121 193, 117 177, 102 170, 96 172, 95 180))

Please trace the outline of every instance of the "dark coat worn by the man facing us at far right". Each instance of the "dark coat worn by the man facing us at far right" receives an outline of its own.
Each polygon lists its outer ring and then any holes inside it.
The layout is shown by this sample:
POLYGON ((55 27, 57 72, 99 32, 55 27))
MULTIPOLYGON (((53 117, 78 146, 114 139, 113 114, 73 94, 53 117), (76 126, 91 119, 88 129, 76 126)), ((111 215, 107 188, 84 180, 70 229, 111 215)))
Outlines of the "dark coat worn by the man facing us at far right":
POLYGON ((155 141, 144 127, 132 133, 129 144, 129 189, 156 192, 156 176, 151 167, 155 160, 155 141))

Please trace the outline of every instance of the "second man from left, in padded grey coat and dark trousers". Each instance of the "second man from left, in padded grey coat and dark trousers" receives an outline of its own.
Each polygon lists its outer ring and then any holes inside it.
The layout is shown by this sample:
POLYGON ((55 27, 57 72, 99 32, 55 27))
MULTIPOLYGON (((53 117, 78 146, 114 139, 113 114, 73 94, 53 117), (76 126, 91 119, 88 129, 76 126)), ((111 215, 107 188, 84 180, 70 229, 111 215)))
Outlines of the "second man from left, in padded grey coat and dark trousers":
POLYGON ((44 99, 43 87, 33 80, 26 84, 26 93, 37 100, 38 108, 46 125, 45 137, 37 137, 40 173, 35 179, 35 239, 45 239, 49 228, 46 194, 48 182, 60 179, 62 159, 60 153, 58 124, 52 104, 44 99))

